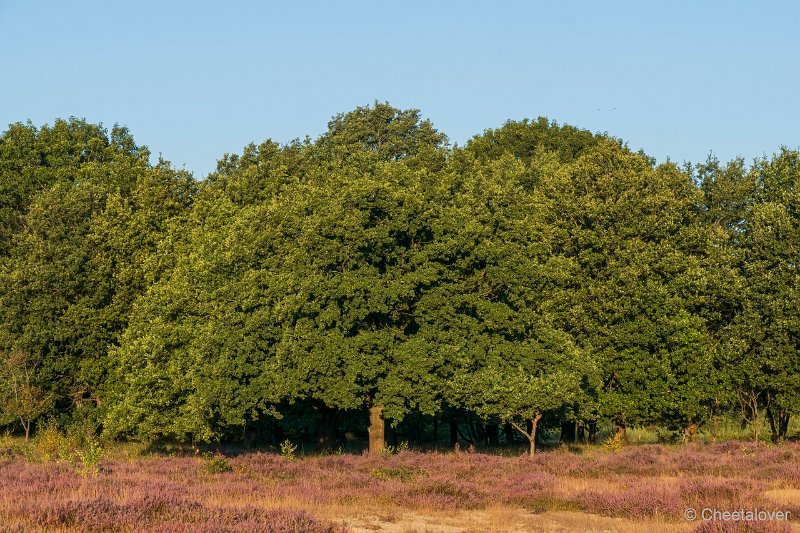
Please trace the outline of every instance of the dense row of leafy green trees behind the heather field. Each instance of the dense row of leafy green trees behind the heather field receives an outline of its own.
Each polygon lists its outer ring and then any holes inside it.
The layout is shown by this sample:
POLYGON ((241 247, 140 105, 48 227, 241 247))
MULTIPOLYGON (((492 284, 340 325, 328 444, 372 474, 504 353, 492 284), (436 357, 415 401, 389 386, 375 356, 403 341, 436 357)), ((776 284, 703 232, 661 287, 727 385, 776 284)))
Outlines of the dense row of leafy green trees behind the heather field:
POLYGON ((740 409, 780 439, 800 410, 797 151, 656 165, 542 118, 452 147, 376 103, 202 182, 149 158, 74 119, 0 137, 6 423, 310 416, 327 447, 369 412, 376 450, 384 421, 470 416, 533 453, 541 420, 692 438, 740 409))

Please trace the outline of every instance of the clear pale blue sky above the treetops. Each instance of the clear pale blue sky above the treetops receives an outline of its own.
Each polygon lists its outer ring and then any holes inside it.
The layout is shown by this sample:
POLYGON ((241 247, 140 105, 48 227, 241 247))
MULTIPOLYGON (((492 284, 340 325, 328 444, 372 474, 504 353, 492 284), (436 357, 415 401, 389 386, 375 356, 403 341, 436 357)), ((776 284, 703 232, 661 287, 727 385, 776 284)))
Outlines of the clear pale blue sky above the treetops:
POLYGON ((198 178, 376 99, 454 142, 547 116, 659 161, 800 145, 800 2, 0 0, 0 126, 128 126, 198 178))

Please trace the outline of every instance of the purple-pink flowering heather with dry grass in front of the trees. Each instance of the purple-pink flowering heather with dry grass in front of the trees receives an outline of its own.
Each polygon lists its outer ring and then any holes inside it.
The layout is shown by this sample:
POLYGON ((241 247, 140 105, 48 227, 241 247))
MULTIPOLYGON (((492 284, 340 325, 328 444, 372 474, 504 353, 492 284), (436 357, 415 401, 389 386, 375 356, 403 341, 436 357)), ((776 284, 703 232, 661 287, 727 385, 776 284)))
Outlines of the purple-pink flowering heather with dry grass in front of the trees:
MULTIPOLYGON (((97 477, 82 477, 68 463, 0 459, 0 524, 6 528, 0 531, 333 533, 365 513, 498 507, 530 516, 565 511, 676 527, 690 527, 683 520, 689 507, 800 517, 798 444, 643 445, 616 453, 586 448, 533 458, 402 452, 291 461, 254 452, 215 461, 226 468, 209 469, 209 461, 197 456, 104 460, 97 477)), ((789 531, 772 522, 695 525, 703 532, 789 531)))

